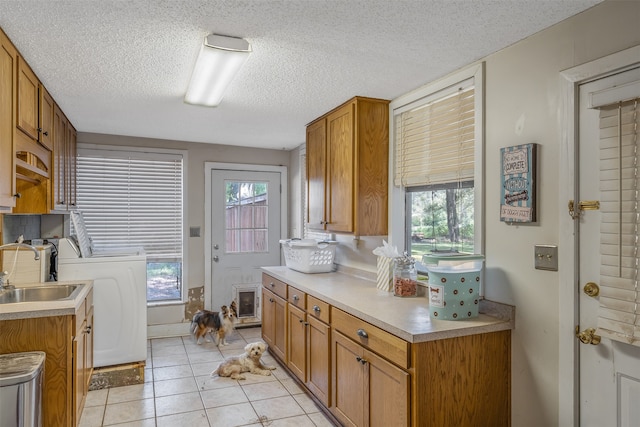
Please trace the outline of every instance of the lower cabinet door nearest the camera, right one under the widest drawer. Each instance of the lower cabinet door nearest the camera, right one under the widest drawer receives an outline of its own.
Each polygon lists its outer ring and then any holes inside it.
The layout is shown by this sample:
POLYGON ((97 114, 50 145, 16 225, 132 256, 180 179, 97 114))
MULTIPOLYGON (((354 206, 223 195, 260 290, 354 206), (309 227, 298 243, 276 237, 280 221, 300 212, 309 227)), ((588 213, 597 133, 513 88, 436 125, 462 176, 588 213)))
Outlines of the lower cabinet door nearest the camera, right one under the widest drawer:
POLYGON ((364 351, 363 360, 368 368, 368 380, 365 381, 367 401, 364 404, 368 408, 367 425, 408 426, 409 374, 367 350, 364 351))

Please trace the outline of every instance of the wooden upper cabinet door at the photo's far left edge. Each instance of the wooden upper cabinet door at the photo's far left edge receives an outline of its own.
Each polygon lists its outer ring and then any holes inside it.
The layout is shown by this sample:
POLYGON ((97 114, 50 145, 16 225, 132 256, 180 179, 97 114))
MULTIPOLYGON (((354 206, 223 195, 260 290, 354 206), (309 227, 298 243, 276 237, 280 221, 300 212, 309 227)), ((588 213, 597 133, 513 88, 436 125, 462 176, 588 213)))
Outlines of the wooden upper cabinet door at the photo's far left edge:
POLYGON ((15 206, 15 76, 18 52, 0 31, 0 208, 15 206))

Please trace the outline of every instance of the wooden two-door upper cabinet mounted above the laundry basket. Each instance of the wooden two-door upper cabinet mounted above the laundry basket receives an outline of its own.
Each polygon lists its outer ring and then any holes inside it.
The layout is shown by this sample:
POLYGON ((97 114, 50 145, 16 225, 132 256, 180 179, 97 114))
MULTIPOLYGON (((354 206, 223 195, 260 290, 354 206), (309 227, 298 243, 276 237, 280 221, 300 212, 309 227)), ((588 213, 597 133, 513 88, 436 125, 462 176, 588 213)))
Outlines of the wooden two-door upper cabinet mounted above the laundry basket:
POLYGON ((389 101, 355 97, 307 127, 309 228, 387 234, 388 176, 389 101))

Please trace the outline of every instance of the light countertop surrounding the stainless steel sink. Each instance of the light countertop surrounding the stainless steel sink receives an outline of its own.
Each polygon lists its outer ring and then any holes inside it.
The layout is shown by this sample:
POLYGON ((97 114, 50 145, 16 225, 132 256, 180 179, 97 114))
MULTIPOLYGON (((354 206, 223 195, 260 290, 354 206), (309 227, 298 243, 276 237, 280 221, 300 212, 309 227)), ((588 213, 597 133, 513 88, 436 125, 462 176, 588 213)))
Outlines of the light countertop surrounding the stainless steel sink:
POLYGON ((0 320, 27 319, 33 317, 65 316, 73 315, 82 305, 87 294, 93 289, 92 280, 75 280, 68 282, 44 282, 20 284, 16 287, 49 286, 49 285, 75 285, 81 284, 82 289, 73 299, 55 301, 17 302, 0 304, 0 320))

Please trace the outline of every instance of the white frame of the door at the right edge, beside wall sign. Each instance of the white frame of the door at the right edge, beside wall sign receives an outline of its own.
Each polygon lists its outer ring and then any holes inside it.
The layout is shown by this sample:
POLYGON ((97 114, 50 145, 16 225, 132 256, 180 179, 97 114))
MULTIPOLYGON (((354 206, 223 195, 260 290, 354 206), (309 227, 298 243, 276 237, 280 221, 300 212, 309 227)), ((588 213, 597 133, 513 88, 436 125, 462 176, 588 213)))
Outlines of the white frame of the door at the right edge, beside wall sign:
POLYGON ((566 242, 558 248, 562 260, 559 268, 559 361, 558 361, 558 425, 579 426, 580 423, 580 353, 575 337, 579 323, 579 223, 571 219, 567 204, 578 195, 578 117, 579 86, 600 76, 623 71, 640 63, 640 45, 596 59, 560 73, 560 186, 558 203, 558 237, 566 242), (566 167, 564 167, 566 165, 566 167))

